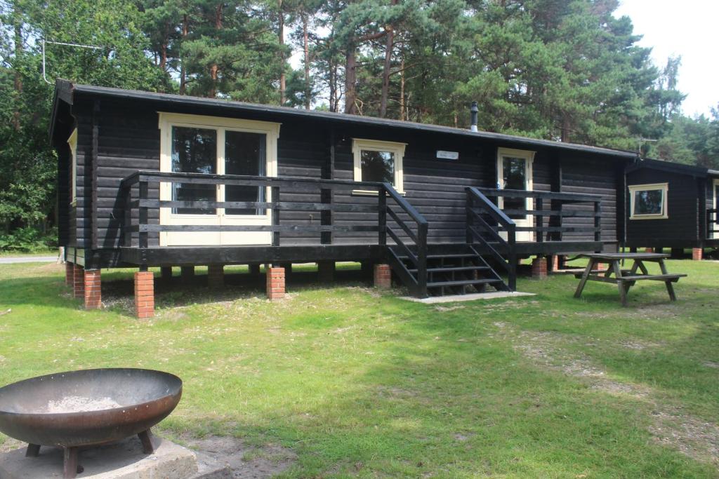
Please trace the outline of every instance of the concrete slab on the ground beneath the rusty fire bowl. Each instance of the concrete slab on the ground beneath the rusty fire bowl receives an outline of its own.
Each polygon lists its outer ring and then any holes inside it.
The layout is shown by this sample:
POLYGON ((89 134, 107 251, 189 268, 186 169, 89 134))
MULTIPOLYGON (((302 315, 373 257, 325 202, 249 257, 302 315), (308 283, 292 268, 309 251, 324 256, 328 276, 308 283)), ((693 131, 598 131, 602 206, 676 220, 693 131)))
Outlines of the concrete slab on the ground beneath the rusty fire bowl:
MULTIPOLYGON (((137 437, 129 437, 111 445, 89 447, 80 451, 79 462, 84 468, 78 479, 188 479, 198 473, 194 452, 155 436, 155 452, 142 453, 137 437)), ((212 476, 209 467, 206 475, 212 476)), ((63 450, 41 447, 40 456, 25 457, 25 449, 0 455, 2 479, 50 479, 63 477, 63 450)))

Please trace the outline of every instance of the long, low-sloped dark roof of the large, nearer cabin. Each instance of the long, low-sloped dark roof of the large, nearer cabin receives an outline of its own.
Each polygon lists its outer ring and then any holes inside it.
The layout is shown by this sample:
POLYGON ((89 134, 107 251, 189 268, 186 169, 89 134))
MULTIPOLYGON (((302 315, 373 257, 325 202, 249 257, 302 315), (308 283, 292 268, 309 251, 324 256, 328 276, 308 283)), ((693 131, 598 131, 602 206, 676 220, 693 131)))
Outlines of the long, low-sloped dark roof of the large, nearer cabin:
MULTIPOLYGON (((433 124, 421 124, 412 121, 391 120, 388 118, 375 118, 372 116, 349 115, 347 113, 334 113, 329 111, 313 111, 286 106, 270 106, 257 103, 244 103, 241 101, 227 101, 216 98, 200 98, 195 96, 174 95, 170 93, 153 93, 139 90, 124 90, 122 88, 109 88, 93 85, 78 85, 68 80, 57 80, 55 85, 55 101, 53 105, 53 117, 57 108, 58 98, 66 103, 73 103, 75 95, 83 96, 104 96, 111 98, 124 98, 139 101, 152 101, 155 103, 167 103, 173 106, 197 106, 203 108, 215 108, 218 113, 223 111, 252 112, 252 113, 273 113, 280 116, 295 118, 313 118, 320 121, 329 121, 340 124, 362 124, 371 126, 384 126, 392 129, 404 129, 413 131, 426 131, 441 134, 452 134, 458 136, 469 136, 472 138, 487 139, 493 141, 506 141, 508 143, 525 147, 549 147, 576 152, 589 152, 595 154, 609 155, 617 159, 634 160, 636 152, 628 152, 619 149, 592 147, 584 144, 562 143, 545 139, 526 138, 489 131, 470 131, 467 129, 454 128, 452 126, 441 126, 433 124)), ((53 122, 54 123, 54 122, 53 122)), ((52 137, 52 124, 50 126, 52 137)))

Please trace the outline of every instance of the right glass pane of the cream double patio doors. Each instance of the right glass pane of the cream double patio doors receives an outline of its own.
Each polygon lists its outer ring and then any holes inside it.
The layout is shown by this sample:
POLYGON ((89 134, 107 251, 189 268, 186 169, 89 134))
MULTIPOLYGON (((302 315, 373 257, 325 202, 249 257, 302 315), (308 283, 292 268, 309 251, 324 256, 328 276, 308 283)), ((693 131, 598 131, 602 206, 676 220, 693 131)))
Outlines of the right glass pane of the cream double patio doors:
MULTIPOLYGON (((225 173, 265 176, 267 164, 265 134, 244 131, 225 132, 225 173)), ((263 186, 226 186, 225 201, 265 201, 263 186)), ((264 215, 264 208, 231 208, 228 215, 264 215)))

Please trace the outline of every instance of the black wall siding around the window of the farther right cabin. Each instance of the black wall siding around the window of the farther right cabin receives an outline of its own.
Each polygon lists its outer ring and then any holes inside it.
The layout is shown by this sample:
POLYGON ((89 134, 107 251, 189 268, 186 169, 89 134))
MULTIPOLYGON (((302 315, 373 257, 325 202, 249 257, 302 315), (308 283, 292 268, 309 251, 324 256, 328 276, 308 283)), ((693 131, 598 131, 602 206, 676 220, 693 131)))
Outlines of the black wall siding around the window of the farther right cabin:
MULTIPOLYGON (((627 186, 668 183, 667 213, 661 220, 632 220, 627 205, 628 246, 695 246, 699 236, 699 181, 691 175, 642 168, 627 175, 627 186)), ((629 192, 627 191, 627 198, 629 192)), ((707 200, 708 202, 708 200, 707 200)))

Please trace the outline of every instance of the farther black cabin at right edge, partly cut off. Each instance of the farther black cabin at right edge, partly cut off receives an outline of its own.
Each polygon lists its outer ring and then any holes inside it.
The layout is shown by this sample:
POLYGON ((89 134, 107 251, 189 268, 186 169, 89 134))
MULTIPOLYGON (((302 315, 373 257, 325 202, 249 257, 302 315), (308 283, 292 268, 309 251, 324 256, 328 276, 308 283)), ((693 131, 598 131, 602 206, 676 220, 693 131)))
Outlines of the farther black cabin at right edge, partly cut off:
POLYGON ((719 246, 719 171, 644 159, 627 169, 626 246, 719 246))

